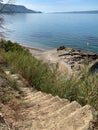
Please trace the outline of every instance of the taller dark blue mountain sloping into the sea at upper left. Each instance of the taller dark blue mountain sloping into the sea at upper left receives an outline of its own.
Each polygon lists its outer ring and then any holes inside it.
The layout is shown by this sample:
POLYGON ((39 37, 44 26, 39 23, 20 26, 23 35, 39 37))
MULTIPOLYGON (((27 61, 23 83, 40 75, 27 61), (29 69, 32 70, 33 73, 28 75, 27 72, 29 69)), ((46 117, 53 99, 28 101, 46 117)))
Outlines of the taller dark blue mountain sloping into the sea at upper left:
POLYGON ((13 4, 2 4, 0 3, 0 12, 1 13, 42 13, 40 11, 34 11, 27 9, 22 5, 13 5, 13 4))

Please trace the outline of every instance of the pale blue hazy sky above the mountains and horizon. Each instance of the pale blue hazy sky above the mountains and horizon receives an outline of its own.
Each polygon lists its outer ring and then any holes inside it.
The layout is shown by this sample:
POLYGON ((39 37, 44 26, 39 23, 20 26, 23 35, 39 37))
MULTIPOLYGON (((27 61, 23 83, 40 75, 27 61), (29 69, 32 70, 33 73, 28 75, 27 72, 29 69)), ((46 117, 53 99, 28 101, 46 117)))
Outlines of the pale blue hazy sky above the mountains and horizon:
POLYGON ((16 0, 16 4, 43 12, 98 10, 98 0, 16 0))

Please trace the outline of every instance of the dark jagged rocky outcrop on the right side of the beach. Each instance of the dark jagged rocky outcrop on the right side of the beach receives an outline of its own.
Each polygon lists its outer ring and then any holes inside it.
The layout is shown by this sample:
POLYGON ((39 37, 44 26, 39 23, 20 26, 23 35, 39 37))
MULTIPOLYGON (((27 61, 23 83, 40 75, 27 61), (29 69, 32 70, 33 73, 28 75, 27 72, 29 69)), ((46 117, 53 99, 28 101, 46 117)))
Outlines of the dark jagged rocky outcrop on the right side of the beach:
POLYGON ((89 67, 92 65, 91 70, 93 69, 93 71, 98 69, 98 55, 95 53, 72 48, 57 49, 57 53, 58 57, 67 63, 73 71, 78 71, 85 65, 89 67))

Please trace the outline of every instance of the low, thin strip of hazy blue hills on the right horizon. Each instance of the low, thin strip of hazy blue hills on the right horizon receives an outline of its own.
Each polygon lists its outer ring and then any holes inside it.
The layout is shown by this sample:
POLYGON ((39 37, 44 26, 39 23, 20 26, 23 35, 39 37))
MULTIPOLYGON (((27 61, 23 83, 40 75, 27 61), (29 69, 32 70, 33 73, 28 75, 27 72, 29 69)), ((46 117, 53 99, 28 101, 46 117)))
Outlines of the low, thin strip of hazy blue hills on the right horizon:
POLYGON ((54 12, 54 13, 98 14, 98 10, 91 10, 91 11, 71 11, 71 12, 54 12))

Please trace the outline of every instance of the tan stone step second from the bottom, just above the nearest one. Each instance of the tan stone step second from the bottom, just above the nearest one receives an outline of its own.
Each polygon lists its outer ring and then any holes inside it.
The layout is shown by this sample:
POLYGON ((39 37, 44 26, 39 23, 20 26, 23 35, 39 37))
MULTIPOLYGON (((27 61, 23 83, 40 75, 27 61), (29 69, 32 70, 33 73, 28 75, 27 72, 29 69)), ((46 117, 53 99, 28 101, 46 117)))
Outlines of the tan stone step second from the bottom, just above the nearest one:
MULTIPOLYGON (((58 124, 61 120, 65 119, 65 117, 68 117, 71 113, 77 111, 80 108, 81 108, 81 105, 74 101, 68 105, 65 105, 61 109, 54 111, 54 112, 50 111, 50 113, 46 117, 45 116, 41 117, 39 115, 38 122, 37 121, 34 122, 33 125, 39 126, 40 129, 45 128, 47 130, 51 125, 53 126, 54 124, 58 124)), ((35 115, 35 117, 37 117, 37 116, 38 115, 35 115)))

